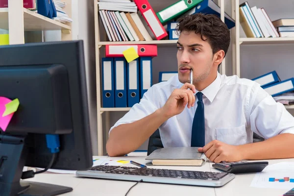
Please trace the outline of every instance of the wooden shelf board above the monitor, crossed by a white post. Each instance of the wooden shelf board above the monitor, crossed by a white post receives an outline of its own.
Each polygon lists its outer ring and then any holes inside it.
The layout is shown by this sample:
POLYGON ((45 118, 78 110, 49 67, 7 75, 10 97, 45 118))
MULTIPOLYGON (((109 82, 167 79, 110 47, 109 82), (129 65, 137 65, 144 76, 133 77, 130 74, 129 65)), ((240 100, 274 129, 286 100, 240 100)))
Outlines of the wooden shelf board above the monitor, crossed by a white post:
MULTIPOLYGON (((71 30, 71 26, 65 25, 36 12, 24 8, 24 27, 25 31, 40 30, 71 30)), ((8 28, 8 8, 0 8, 0 28, 8 28)))

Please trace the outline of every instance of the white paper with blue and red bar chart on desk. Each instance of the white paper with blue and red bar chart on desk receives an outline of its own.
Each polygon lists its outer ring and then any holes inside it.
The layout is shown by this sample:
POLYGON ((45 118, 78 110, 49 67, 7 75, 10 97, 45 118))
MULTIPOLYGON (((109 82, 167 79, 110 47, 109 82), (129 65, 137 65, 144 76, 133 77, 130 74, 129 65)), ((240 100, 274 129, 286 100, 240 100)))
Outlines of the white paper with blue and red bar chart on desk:
POLYGON ((294 188, 294 163, 281 162, 267 166, 262 172, 255 174, 250 186, 274 189, 294 188))

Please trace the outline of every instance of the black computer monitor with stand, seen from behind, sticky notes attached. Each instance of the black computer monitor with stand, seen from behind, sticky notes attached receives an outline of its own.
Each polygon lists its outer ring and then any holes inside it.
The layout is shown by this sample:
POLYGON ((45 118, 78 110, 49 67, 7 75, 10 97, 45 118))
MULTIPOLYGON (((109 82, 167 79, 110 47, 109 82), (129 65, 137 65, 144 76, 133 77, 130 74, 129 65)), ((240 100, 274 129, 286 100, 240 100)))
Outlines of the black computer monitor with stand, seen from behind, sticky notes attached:
MULTIPOLYGON (((20 102, 7 129, 0 129, 1 194, 72 191, 21 178, 36 174, 23 172, 24 166, 87 170, 93 165, 83 41, 0 46, 0 97, 20 102)), ((0 122, 3 118, 0 114, 0 122)))

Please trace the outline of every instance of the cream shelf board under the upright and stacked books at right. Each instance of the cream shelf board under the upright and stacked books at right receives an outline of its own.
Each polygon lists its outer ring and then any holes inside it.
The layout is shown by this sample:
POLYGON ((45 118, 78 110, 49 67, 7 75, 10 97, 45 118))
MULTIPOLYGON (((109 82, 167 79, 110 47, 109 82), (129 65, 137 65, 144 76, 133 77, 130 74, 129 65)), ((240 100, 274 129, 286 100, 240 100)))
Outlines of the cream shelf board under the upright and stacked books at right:
POLYGON ((240 38, 240 45, 294 44, 294 37, 240 38))

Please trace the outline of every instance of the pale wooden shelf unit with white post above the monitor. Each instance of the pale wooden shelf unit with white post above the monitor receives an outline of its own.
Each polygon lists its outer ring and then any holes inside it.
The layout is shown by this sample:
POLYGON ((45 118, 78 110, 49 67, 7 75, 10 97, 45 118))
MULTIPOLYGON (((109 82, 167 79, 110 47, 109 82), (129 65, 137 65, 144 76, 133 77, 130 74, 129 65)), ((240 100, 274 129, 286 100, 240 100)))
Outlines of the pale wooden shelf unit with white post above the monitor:
MULTIPOLYGON (((62 40, 72 40, 72 25, 63 24, 37 12, 25 9, 23 0, 8 0, 8 8, 0 8, 0 28, 9 30, 9 44, 24 44, 25 31, 61 30, 62 40)), ((67 3, 64 11, 72 16, 72 0, 67 3)))

